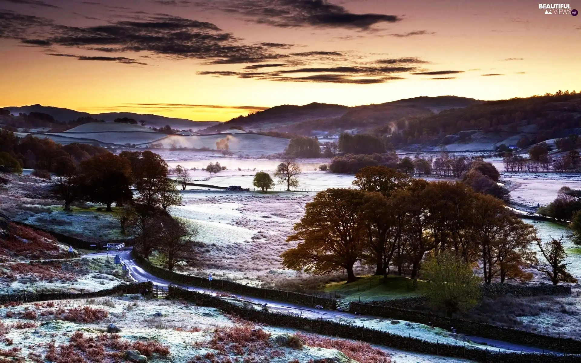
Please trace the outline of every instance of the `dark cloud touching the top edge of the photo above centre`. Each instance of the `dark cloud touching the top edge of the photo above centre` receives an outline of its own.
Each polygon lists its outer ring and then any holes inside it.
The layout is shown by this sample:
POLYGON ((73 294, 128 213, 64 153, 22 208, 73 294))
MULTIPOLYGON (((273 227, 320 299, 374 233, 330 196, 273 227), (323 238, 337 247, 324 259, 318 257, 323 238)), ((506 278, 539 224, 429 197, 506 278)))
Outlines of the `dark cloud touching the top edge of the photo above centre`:
POLYGON ((341 27, 366 30, 378 23, 394 23, 395 15, 355 14, 328 0, 207 0, 196 6, 210 6, 238 13, 259 24, 275 27, 341 27))

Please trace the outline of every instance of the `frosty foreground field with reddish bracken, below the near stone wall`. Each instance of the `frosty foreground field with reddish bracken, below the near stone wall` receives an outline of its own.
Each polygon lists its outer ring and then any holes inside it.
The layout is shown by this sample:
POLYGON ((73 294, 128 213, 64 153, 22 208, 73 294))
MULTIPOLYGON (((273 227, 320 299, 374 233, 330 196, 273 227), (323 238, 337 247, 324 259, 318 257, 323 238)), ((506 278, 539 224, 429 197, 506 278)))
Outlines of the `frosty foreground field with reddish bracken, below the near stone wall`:
POLYGON ((361 354, 370 362, 382 357, 398 363, 468 362, 304 333, 300 337, 309 344, 300 348, 288 343, 297 333, 295 330, 256 326, 215 308, 145 300, 138 294, 13 304, 0 308, 0 314, 6 317, 2 321, 3 342, 13 347, 5 353, 15 360, 27 357, 40 361, 48 357, 57 363, 73 359, 83 362, 85 358, 100 361, 95 358, 114 358, 135 349, 152 362, 205 361, 203 358, 225 356, 234 361, 238 357, 307 363, 327 358, 350 363, 354 360, 349 357, 361 354), (107 334, 109 324, 121 331, 107 334))

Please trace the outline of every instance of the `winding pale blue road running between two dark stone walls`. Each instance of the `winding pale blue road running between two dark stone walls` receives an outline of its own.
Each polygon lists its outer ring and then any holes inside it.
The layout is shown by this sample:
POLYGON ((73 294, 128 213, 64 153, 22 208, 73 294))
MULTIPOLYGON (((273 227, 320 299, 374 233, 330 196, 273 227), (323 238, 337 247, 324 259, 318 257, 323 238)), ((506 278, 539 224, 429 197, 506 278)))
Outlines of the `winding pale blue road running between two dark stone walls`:
MULTIPOLYGON (((196 286, 182 285, 180 283, 170 282, 170 281, 158 278, 157 276, 150 274, 149 272, 147 272, 144 269, 142 269, 141 267, 139 267, 139 265, 137 265, 137 263, 135 263, 135 260, 131 257, 131 247, 128 249, 125 249, 125 250, 121 250, 121 251, 91 253, 91 254, 81 256, 81 257, 82 258, 95 258, 95 257, 112 257, 113 258, 116 254, 119 254, 121 262, 124 263, 125 266, 127 266, 127 271, 128 271, 128 275, 130 276, 130 278, 136 282, 151 281, 157 286, 173 285, 173 286, 182 287, 183 289, 203 292, 203 293, 207 293, 207 294, 216 294, 217 293, 216 290, 203 289, 201 287, 196 287, 196 286)), ((296 304, 282 303, 281 301, 264 300, 264 299, 259 299, 256 297, 238 296, 235 298, 235 300, 244 301, 246 303, 253 304, 254 306, 261 306, 261 305, 266 303, 270 310, 279 311, 279 312, 285 313, 285 314, 295 314, 295 315, 299 315, 299 316, 310 318, 310 319, 333 319, 333 320, 337 320, 339 318, 346 318, 346 319, 361 318, 360 315, 354 315, 354 314, 351 314, 349 312, 333 311, 333 310, 318 310, 318 309, 314 309, 314 308, 299 306, 296 304)), ((512 351, 518 351, 518 352, 523 351, 525 353, 560 354, 560 353, 557 353, 554 351, 547 351, 547 350, 543 350, 543 349, 535 348, 535 347, 521 346, 519 344, 501 342, 499 340, 486 339, 483 337, 464 336, 464 338, 466 340, 469 340, 469 341, 474 342, 476 344, 486 344, 486 346, 488 346, 490 348, 497 348, 497 349, 500 348, 500 349, 504 349, 504 350, 512 350, 512 351)))

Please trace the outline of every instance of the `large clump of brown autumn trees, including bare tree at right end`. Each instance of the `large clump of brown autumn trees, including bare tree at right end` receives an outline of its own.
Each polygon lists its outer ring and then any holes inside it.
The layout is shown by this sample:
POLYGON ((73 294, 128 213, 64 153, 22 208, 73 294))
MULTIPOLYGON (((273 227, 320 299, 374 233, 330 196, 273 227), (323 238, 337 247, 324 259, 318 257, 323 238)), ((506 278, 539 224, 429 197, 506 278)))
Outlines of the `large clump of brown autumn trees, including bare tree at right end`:
POLYGON ((307 203, 287 239, 299 244, 281 255, 285 267, 314 274, 346 271, 347 282, 353 282, 354 266, 361 264, 385 278, 393 271, 416 281, 429 253, 451 253, 478 267, 487 284, 528 281, 530 268, 551 275, 555 284, 574 280, 560 243, 541 242, 536 229, 501 200, 464 182, 428 182, 374 166, 358 172, 353 184, 358 189, 327 189, 307 203), (538 260, 532 245, 548 258, 538 260))

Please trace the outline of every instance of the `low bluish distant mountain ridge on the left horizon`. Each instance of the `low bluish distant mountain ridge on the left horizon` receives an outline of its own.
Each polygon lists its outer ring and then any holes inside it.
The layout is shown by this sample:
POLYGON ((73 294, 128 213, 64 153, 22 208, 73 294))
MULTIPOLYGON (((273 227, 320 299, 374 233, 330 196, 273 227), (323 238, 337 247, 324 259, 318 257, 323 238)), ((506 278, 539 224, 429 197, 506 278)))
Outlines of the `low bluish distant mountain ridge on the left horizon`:
POLYGON ((30 106, 13 106, 13 107, 3 107, 3 109, 9 110, 10 113, 17 116, 19 113, 31 113, 40 112, 51 115, 55 120, 61 122, 68 122, 71 120, 77 120, 80 117, 92 117, 97 120, 104 120, 106 122, 113 122, 116 118, 133 118, 136 121, 145 121, 146 126, 151 127, 163 127, 165 125, 170 125, 177 129, 189 129, 199 130, 200 128, 209 127, 211 125, 217 124, 218 121, 192 121, 187 118, 174 118, 165 117, 155 114, 139 114, 132 112, 106 112, 92 114, 88 112, 81 112, 71 109, 64 109, 61 107, 53 106, 42 106, 42 105, 30 105, 30 106))

